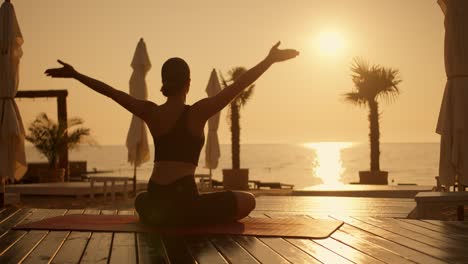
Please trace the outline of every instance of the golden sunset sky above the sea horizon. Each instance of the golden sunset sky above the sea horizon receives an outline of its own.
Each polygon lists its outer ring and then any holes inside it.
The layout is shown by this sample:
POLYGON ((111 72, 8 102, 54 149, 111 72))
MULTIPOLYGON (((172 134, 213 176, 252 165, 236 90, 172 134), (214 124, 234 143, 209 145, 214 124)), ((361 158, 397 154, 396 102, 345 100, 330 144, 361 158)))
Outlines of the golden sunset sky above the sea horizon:
MULTIPOLYGON (((101 145, 125 143, 131 114, 76 81, 50 79, 43 72, 62 59, 128 92, 130 62, 140 37, 153 65, 146 80, 149 99, 156 103, 164 102, 160 69, 170 57, 182 57, 191 66, 187 103, 192 104, 206 96, 213 68, 251 67, 277 40, 301 52, 256 82, 241 111, 243 143, 366 142, 367 110, 342 99, 352 88, 349 66, 356 56, 401 72, 401 96, 381 105, 381 140, 439 140, 434 131, 445 85, 444 28, 435 0, 12 3, 25 40, 19 89, 68 89, 69 117, 83 118, 101 145), (327 35, 342 40, 330 44, 339 50, 327 52, 320 44, 327 35)), ((26 127, 39 112, 56 118, 52 98, 23 99, 18 105, 26 127)), ((225 114, 219 138, 229 143, 225 114)))

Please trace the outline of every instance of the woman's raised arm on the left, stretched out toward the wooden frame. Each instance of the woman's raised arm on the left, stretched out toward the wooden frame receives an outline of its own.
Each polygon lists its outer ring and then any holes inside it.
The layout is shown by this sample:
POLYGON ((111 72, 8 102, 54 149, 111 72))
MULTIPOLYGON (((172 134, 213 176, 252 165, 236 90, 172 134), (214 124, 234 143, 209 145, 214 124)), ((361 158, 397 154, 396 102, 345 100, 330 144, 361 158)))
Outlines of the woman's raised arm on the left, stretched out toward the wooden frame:
POLYGON ((149 117, 149 110, 151 106, 155 106, 153 102, 136 99, 129 94, 117 90, 101 81, 95 80, 91 77, 83 75, 76 71, 71 65, 58 60, 63 65, 62 68, 48 69, 45 71, 47 76, 53 78, 73 78, 88 86, 94 91, 110 97, 112 100, 123 106, 125 109, 130 111, 132 114, 140 117, 143 120, 147 120, 149 117))

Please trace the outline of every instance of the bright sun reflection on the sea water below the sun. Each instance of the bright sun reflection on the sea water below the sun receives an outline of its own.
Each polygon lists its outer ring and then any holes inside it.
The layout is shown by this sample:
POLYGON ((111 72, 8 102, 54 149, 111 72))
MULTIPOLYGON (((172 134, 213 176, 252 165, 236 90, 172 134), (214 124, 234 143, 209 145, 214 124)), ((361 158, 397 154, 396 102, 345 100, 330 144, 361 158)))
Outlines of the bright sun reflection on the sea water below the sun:
POLYGON ((315 176, 320 178, 324 185, 333 187, 342 185, 341 176, 344 172, 341 161, 341 150, 353 145, 351 142, 319 142, 306 143, 304 146, 315 150, 316 167, 315 176))

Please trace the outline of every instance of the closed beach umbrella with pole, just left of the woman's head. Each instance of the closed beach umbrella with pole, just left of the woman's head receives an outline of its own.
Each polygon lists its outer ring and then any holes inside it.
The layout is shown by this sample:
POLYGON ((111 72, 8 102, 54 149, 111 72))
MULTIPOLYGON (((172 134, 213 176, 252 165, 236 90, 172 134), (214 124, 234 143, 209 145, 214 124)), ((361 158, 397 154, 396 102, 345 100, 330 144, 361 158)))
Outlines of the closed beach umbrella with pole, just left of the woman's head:
MULTIPOLYGON (((148 99, 148 88, 146 87, 146 74, 151 69, 146 44, 140 39, 133 55, 131 64, 133 68, 130 77, 130 95, 142 100, 148 99)), ((150 159, 148 136, 146 125, 137 116, 132 116, 130 128, 127 134, 128 162, 133 164, 133 192, 136 192, 136 167, 150 159)))

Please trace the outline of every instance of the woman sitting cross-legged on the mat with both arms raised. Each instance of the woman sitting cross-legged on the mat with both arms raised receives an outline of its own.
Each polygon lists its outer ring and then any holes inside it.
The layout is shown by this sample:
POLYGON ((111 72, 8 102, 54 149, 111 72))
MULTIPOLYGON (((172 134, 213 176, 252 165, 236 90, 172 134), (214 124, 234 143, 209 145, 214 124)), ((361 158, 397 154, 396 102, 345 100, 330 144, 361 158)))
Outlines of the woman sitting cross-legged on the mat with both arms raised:
POLYGON ((257 80, 276 62, 292 59, 299 52, 278 49, 240 76, 216 96, 186 105, 190 88, 190 69, 180 58, 167 60, 161 69, 161 91, 167 97, 162 105, 136 99, 127 93, 83 75, 62 61, 62 68, 48 69, 54 78, 73 78, 94 91, 110 97, 147 124, 154 139, 155 162, 148 191, 138 194, 135 209, 140 219, 152 225, 198 225, 241 219, 255 208, 255 197, 248 192, 221 191, 199 194, 194 173, 204 144, 208 119, 221 111, 244 88, 257 80))

